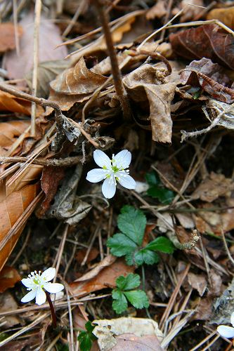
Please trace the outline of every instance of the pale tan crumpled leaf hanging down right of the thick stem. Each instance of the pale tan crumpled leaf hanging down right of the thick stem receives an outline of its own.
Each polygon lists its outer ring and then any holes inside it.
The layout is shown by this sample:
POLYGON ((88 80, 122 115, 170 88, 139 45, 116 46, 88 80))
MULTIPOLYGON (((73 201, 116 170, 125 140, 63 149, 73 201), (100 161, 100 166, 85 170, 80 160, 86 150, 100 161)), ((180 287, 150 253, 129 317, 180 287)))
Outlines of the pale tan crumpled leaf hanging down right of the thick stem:
POLYGON ((143 65, 123 79, 129 96, 139 102, 148 100, 152 140, 171 143, 172 120, 170 105, 176 84, 157 81, 157 68, 143 65))

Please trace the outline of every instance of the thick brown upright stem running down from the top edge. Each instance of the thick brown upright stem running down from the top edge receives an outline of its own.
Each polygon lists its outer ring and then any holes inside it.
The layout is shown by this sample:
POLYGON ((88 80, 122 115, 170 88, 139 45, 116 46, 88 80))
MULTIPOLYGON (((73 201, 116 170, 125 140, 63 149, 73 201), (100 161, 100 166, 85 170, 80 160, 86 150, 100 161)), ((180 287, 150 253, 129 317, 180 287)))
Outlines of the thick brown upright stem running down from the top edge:
POLYGON ((124 84, 122 82, 122 74, 119 70, 119 65, 118 65, 118 60, 117 60, 117 55, 115 52, 113 40, 112 40, 112 35, 110 32, 110 27, 109 27, 109 21, 108 21, 108 14, 106 11, 103 11, 103 4, 102 0, 96 0, 93 1, 95 4, 99 17, 100 17, 100 22, 103 27, 103 33, 105 36, 105 43, 108 48, 108 54, 110 56, 110 62, 111 62, 111 70, 112 70, 112 76, 114 80, 114 85, 115 85, 115 91, 117 93, 117 96, 119 98, 120 105, 122 107, 122 112, 124 114, 124 117, 126 119, 130 119, 131 117, 131 109, 129 106, 129 100, 126 95, 126 91, 124 89, 124 84))

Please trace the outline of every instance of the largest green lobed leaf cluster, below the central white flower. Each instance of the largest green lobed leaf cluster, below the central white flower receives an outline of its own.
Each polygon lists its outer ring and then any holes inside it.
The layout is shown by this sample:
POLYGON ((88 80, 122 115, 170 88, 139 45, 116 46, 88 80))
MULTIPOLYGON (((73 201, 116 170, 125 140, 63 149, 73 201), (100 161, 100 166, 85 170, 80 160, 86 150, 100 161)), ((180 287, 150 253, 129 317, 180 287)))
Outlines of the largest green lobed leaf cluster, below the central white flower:
POLYGON ((165 237, 157 237, 150 241, 145 247, 143 237, 145 234, 146 217, 144 213, 133 206, 124 206, 117 218, 120 233, 114 234, 108 239, 107 246, 110 247, 112 255, 125 256, 128 265, 152 265, 157 263, 159 256, 155 251, 173 253, 174 245, 165 237))

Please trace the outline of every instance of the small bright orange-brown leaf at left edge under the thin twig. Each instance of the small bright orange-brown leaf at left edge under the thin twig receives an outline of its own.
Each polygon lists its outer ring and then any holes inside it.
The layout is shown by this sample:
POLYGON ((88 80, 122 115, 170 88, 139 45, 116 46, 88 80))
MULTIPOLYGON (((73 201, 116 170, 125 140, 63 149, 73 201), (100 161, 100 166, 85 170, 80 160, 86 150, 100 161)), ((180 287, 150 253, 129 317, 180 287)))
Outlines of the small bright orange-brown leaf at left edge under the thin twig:
POLYGON ((18 112, 31 115, 32 103, 28 100, 15 98, 15 96, 0 91, 0 111, 18 112))

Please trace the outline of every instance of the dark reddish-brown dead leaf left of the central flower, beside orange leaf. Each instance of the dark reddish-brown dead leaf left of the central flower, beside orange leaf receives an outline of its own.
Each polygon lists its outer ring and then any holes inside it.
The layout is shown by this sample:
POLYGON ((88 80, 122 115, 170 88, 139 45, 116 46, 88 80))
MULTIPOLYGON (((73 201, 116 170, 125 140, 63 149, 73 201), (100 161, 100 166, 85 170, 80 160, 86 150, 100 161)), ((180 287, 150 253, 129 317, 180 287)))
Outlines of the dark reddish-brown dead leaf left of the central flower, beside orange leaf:
POLYGON ((55 196, 60 180, 65 176, 64 167, 44 167, 41 176, 41 189, 46 194, 46 198, 41 204, 40 216, 44 215, 51 205, 55 196))

